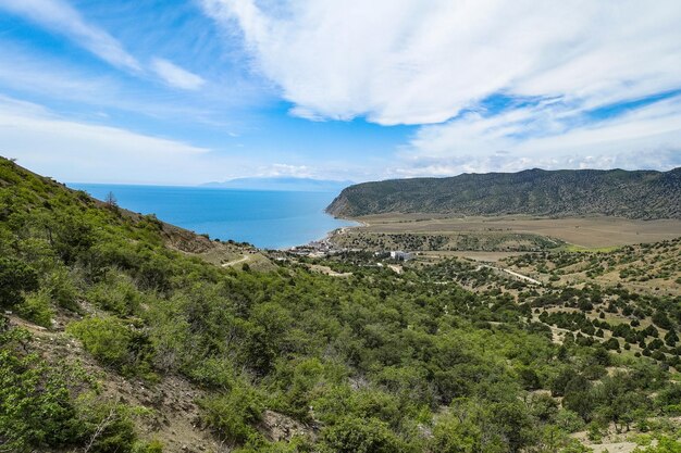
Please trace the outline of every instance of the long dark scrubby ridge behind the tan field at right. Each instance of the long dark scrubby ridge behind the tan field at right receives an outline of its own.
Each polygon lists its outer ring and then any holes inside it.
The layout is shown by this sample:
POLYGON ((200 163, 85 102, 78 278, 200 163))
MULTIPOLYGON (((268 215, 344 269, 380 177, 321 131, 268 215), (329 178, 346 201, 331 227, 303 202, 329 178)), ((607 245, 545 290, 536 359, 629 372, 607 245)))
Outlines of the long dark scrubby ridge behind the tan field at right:
POLYGON ((420 212, 681 218, 681 167, 669 172, 534 168, 363 183, 344 189, 326 211, 338 217, 420 212))

